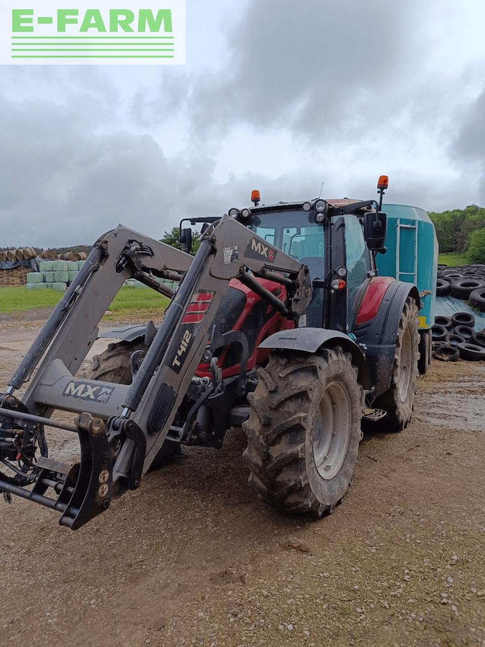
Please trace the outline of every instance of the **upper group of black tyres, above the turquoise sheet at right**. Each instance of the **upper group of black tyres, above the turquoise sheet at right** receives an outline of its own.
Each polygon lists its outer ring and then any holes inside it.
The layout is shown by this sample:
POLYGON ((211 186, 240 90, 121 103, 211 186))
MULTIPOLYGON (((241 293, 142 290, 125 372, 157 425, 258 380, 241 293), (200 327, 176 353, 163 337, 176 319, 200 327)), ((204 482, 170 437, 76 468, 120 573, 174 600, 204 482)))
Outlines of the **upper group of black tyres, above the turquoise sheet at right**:
POLYGON ((485 265, 438 265, 436 296, 448 295, 485 312, 485 265))

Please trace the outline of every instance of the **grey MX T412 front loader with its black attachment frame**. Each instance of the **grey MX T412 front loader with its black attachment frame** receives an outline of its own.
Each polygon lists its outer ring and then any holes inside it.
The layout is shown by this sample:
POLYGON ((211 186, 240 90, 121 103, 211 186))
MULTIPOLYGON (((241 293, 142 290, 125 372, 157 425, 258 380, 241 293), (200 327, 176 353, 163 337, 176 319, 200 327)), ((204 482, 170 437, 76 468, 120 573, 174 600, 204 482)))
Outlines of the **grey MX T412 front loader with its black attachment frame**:
MULTIPOLYGON (((206 230, 193 259, 122 225, 100 238, 0 395, 0 466, 13 472, 0 473, 0 492, 56 509, 61 525, 78 529, 113 497, 137 488, 167 434, 180 441, 189 431, 174 428, 173 419, 233 278, 296 325, 310 303, 308 268, 228 216, 206 230), (181 278, 180 284, 132 384, 76 377, 124 281, 135 277, 164 291, 155 281, 164 276, 181 278), (285 285, 286 302, 255 276, 285 285), (51 420, 56 410, 78 414, 74 424, 51 420), (44 426, 78 433, 80 463, 48 456, 44 426)), ((217 370, 213 362, 209 391, 217 370)))

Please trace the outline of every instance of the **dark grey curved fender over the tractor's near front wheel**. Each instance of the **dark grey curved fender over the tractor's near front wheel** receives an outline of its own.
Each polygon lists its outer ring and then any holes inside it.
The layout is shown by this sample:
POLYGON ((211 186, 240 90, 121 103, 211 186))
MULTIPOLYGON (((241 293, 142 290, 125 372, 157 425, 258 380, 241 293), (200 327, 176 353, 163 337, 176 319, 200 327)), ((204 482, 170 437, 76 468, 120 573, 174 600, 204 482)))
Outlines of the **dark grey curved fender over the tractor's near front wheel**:
POLYGON ((266 337, 259 344, 259 348, 282 348, 289 351, 316 353, 320 349, 331 348, 337 345, 352 355, 352 362, 354 362, 359 371, 358 382, 365 391, 370 391, 372 385, 369 370, 365 362, 365 355, 354 340, 345 333, 323 328, 281 330, 278 333, 270 334, 269 337, 266 337))

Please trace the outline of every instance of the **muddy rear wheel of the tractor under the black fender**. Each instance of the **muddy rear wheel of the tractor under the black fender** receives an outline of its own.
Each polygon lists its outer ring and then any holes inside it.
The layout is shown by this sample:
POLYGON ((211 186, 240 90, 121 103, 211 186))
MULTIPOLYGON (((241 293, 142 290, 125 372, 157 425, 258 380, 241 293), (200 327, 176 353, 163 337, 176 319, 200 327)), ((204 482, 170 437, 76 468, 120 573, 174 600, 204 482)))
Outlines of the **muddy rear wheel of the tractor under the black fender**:
POLYGON ((394 431, 405 429, 413 415, 418 376, 418 344, 418 307, 413 297, 409 296, 399 320, 391 389, 373 404, 375 408, 387 412, 394 431))

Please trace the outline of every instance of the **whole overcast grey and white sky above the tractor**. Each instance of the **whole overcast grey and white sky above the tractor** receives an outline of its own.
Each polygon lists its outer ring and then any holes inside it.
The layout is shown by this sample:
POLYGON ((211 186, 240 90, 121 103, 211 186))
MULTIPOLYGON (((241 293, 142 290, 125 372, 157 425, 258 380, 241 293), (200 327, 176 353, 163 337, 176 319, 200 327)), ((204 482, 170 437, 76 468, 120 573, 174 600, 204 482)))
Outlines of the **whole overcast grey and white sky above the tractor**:
POLYGON ((485 205, 482 0, 187 0, 185 66, 0 67, 0 246, 250 203, 485 205))

